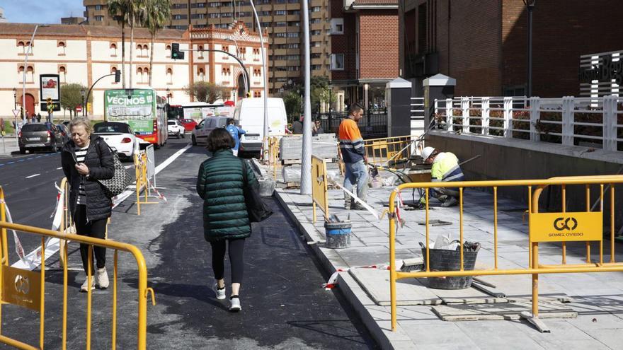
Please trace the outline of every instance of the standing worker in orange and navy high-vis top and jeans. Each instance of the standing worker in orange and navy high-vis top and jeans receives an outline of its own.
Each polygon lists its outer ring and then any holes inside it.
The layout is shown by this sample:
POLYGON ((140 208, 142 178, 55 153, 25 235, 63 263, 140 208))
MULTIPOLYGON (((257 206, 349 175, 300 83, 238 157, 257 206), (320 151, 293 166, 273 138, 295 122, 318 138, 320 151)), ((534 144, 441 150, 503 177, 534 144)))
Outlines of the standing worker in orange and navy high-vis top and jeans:
MULTIPOLYGON (((344 188, 353 192, 353 185, 357 185, 357 197, 365 202, 367 194, 367 158, 363 147, 363 139, 357 122, 361 119, 363 109, 357 103, 350 106, 348 117, 340 124, 340 151, 344 161, 344 188)), ((365 209, 344 192, 345 209, 365 209)))

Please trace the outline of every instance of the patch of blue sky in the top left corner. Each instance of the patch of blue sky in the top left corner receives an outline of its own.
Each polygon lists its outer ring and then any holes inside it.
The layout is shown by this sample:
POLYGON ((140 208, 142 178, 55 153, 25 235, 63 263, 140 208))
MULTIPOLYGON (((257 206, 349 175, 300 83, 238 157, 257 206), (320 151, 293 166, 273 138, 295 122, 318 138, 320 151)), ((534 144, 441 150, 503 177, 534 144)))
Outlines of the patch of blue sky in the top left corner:
POLYGON ((0 0, 11 23, 61 23, 61 17, 82 16, 82 0, 0 0))

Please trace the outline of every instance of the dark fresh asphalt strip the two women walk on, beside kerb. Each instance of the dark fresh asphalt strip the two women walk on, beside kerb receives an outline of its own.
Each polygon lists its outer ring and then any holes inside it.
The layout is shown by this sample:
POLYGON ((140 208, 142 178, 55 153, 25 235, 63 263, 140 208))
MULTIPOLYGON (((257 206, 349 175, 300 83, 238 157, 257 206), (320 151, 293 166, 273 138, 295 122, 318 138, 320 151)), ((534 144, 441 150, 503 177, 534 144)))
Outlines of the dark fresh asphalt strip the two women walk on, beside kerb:
MULTIPOLYGON (((173 153, 187 140, 172 140, 156 155, 168 148, 173 153)), ((227 301, 215 298, 202 201, 195 192, 205 159, 202 147, 188 149, 157 175, 167 202, 144 205, 137 216, 130 197, 115 208, 108 229, 110 239, 138 247, 147 264, 148 286, 156 294, 156 305, 147 307, 147 349, 377 349, 339 288, 321 288, 328 274, 274 199, 265 202, 275 214, 254 223, 246 241, 243 310, 229 313, 227 301)), ((86 344, 86 294, 78 291, 84 273, 77 249, 75 243, 69 245, 68 349, 86 344)), ((93 293, 92 349, 111 347, 113 252, 107 257, 111 288, 93 293)), ((59 349, 62 270, 55 259, 46 265, 45 347, 59 349)), ((120 252, 118 266, 117 344, 132 349, 137 337, 136 262, 120 252)), ((229 276, 226 261, 226 282, 229 276)), ((228 296, 230 292, 228 287, 228 296)), ((3 305, 2 316, 2 334, 38 344, 38 313, 3 305)))

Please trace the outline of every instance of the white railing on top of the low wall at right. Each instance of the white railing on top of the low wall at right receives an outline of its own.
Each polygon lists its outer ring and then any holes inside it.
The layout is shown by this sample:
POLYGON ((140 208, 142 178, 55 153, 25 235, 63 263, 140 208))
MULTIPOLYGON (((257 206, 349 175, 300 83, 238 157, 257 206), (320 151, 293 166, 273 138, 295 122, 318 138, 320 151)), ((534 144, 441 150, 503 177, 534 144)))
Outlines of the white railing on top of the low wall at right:
POLYGON ((623 98, 462 97, 435 100, 442 129, 617 151, 623 98))

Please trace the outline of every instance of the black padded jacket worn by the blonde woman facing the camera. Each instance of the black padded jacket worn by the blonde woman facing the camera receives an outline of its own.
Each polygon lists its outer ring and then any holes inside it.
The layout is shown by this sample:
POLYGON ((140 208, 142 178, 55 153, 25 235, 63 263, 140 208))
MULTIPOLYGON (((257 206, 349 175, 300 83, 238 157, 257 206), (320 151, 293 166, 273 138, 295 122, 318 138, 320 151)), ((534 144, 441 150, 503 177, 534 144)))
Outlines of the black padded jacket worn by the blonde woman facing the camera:
POLYGON ((91 144, 88 146, 84 163, 88 167, 88 177, 82 176, 76 170, 76 145, 73 140, 64 144, 61 153, 63 173, 69 182, 69 211, 72 218, 76 213, 78 189, 80 180, 84 177, 84 192, 86 192, 86 218, 88 221, 109 218, 113 209, 113 202, 106 197, 103 186, 97 180, 108 180, 115 173, 113 153, 105 141, 97 135, 91 135, 91 144))

